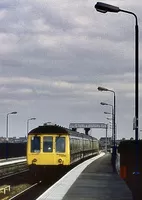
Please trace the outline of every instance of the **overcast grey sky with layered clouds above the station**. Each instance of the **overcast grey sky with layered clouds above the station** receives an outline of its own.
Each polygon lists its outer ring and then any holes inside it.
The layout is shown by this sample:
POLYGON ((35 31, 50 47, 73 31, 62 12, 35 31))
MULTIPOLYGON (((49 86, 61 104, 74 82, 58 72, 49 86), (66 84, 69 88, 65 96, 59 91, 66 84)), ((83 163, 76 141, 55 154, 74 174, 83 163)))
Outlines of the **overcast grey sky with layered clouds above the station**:
MULTIPOLYGON (((125 13, 102 14, 93 0, 0 1, 0 136, 25 136, 45 122, 108 123, 104 111, 116 92, 118 138, 134 137, 134 26, 125 13)), ((141 0, 104 0, 136 13, 142 31, 141 0)), ((142 37, 140 34, 139 44, 142 37)), ((141 52, 140 52, 141 67, 141 52)), ((142 92, 140 69, 140 94, 142 92)), ((141 103, 141 97, 140 97, 141 103)), ((141 106, 140 106, 141 107, 141 106)), ((142 129, 142 108, 139 127, 142 129)), ((94 129, 97 138, 105 130, 94 129)), ((109 130, 109 136, 111 131, 109 130)), ((142 132, 141 132, 142 136, 142 132)))

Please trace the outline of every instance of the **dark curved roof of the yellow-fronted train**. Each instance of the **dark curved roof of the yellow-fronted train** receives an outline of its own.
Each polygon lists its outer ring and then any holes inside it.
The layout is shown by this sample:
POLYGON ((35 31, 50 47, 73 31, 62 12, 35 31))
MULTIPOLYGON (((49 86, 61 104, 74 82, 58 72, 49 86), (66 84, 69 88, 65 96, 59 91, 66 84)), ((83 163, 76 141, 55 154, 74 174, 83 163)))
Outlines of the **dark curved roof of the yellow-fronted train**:
POLYGON ((78 137, 83 137, 83 138, 93 138, 94 140, 97 140, 96 138, 90 136, 90 135, 85 135, 84 133, 79 133, 76 131, 72 131, 71 129, 58 126, 58 125, 43 125, 43 126, 38 126, 35 129, 31 130, 28 135, 42 135, 42 134, 59 134, 59 135, 71 135, 71 136, 78 136, 78 137))

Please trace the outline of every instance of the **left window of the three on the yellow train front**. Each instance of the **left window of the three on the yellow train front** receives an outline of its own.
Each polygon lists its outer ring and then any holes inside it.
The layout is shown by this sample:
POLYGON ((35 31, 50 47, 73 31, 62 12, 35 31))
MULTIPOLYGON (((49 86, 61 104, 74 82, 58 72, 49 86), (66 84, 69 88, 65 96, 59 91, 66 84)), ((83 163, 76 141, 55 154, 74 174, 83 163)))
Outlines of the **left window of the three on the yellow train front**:
POLYGON ((40 137, 33 136, 31 138, 31 152, 38 153, 40 152, 40 137))

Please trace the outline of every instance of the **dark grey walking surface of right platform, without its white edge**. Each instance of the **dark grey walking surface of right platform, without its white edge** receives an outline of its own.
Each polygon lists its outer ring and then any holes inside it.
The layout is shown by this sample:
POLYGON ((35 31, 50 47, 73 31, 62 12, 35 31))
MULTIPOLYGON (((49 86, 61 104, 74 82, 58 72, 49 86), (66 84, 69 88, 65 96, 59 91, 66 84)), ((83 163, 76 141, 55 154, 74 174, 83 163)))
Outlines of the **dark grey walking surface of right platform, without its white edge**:
POLYGON ((132 199, 126 183, 113 172, 110 154, 92 162, 63 197, 63 200, 132 199))

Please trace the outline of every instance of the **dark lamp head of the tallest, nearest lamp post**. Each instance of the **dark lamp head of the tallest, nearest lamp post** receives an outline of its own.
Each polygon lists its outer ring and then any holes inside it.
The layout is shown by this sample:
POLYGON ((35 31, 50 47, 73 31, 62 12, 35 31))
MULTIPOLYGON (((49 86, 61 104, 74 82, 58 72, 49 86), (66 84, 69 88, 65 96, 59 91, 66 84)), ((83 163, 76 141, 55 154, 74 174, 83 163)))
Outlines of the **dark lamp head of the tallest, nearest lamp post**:
POLYGON ((95 8, 98 12, 102 12, 102 13, 106 13, 106 12, 119 12, 120 9, 119 7, 110 5, 110 4, 106 4, 106 3, 102 3, 102 2, 97 2, 95 5, 95 8))

